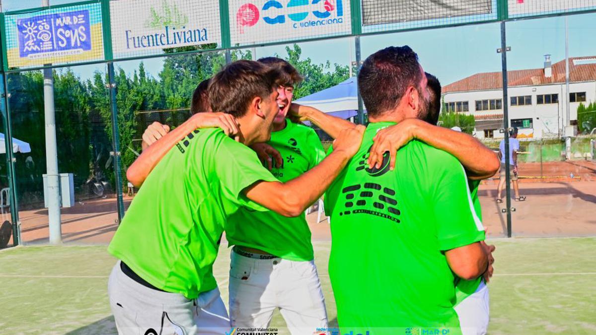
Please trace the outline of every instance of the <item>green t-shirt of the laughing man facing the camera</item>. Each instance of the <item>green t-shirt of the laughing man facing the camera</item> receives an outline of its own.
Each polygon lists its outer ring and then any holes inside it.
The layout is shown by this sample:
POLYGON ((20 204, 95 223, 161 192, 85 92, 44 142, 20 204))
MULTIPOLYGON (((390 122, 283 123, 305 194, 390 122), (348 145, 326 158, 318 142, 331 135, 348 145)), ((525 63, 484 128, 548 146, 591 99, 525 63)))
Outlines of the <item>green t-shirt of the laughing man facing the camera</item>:
MULTIPOLYGON (((280 151, 284 160, 280 168, 272 170, 282 182, 297 178, 325 157, 315 131, 290 120, 286 120, 284 129, 271 133, 268 144, 280 151)), ((243 208, 229 217, 226 238, 230 246, 251 247, 284 259, 306 261, 314 258, 311 230, 304 214, 286 218, 271 211, 254 212, 243 208)))

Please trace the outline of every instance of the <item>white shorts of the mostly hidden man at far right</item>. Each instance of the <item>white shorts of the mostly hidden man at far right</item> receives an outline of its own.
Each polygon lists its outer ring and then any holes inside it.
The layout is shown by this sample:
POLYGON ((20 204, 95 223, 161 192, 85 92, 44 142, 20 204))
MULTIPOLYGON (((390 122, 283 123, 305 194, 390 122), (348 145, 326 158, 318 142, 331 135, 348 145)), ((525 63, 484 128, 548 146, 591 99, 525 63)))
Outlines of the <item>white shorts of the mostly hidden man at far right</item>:
POLYGON ((480 282, 478 289, 455 306, 463 335, 486 334, 489 322, 488 286, 480 282))

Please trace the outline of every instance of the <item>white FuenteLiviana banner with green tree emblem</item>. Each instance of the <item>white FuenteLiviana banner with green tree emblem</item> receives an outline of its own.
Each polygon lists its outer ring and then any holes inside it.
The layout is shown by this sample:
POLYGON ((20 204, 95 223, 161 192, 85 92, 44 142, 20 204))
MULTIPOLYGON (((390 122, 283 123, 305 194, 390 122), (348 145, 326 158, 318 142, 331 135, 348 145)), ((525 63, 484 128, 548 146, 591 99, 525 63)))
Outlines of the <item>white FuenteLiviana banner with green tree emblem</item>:
POLYGON ((114 55, 211 43, 221 46, 219 1, 113 0, 110 17, 114 55))

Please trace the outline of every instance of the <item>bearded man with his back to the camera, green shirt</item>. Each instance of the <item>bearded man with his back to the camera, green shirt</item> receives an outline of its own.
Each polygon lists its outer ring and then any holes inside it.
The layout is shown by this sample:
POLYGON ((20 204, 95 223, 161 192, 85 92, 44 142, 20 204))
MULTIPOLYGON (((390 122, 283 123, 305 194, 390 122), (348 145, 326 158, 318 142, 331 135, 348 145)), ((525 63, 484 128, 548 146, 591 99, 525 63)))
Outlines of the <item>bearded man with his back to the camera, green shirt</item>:
MULTIPOLYGON (((408 46, 368 57, 358 85, 371 123, 357 159, 325 196, 333 219, 330 277, 339 325, 375 334, 408 327, 458 333, 454 279, 485 272, 484 231, 460 162, 424 142, 449 149, 477 178, 495 172, 486 166, 496 157, 465 134, 417 120, 429 116, 430 95, 408 46), (362 247, 353 247, 354 241, 362 247)), ((342 129, 310 108, 293 110, 318 126, 333 124, 331 136, 342 129)))

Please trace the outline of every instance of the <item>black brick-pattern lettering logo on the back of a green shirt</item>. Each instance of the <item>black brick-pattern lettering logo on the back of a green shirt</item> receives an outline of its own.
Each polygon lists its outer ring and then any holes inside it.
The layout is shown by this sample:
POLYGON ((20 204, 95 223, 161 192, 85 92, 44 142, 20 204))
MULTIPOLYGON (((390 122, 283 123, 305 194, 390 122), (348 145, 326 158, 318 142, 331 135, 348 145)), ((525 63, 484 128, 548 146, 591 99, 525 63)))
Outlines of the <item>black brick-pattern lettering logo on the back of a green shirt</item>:
POLYGON ((398 201, 393 198, 395 196, 395 190, 382 187, 380 184, 375 184, 374 182, 365 182, 364 184, 344 187, 342 193, 346 197, 346 203, 344 203, 346 210, 339 213, 340 216, 364 213, 381 216, 381 218, 395 221, 398 224, 401 222, 398 219, 401 212, 396 208, 398 201), (362 208, 367 206, 367 204, 368 206, 373 204, 375 209, 362 208), (380 212, 381 210, 383 212, 380 212))

